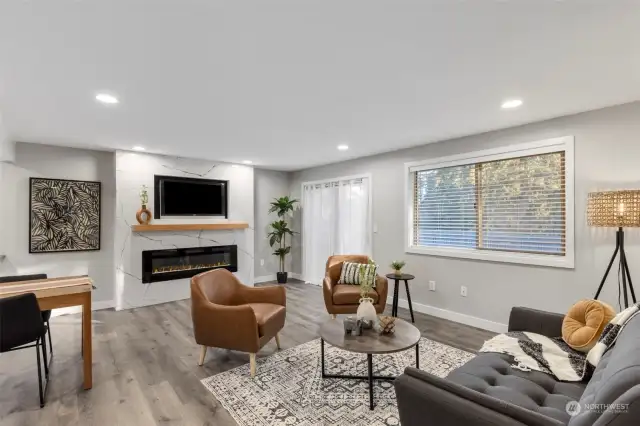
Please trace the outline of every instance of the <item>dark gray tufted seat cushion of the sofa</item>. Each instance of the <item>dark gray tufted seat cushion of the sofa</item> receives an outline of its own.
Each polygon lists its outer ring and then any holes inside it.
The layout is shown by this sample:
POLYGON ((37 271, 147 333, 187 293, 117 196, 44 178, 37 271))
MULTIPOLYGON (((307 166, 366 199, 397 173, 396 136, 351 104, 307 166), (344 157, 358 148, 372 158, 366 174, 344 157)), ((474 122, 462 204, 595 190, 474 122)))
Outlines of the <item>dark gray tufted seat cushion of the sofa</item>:
POLYGON ((568 423, 566 405, 578 401, 586 383, 559 382, 539 371, 512 368, 508 355, 481 353, 447 376, 459 385, 568 423))

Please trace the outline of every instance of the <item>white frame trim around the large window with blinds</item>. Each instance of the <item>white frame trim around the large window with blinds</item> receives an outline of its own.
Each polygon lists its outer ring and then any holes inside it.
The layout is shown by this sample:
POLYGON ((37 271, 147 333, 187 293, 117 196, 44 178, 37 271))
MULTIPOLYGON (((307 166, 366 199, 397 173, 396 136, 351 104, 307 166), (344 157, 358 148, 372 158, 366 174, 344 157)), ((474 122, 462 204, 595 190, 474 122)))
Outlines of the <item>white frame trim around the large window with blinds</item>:
POLYGON ((550 266, 556 268, 574 268, 575 264, 575 194, 574 194, 574 137, 563 136, 537 142, 510 145, 501 148, 469 152, 404 164, 405 175, 405 252, 429 256, 444 256, 462 259, 486 260, 523 265, 550 266), (420 247, 413 243, 413 185, 415 174, 421 170, 441 169, 475 164, 487 161, 506 160, 529 155, 565 153, 565 254, 553 256, 538 253, 520 253, 508 251, 479 250, 457 247, 420 247))

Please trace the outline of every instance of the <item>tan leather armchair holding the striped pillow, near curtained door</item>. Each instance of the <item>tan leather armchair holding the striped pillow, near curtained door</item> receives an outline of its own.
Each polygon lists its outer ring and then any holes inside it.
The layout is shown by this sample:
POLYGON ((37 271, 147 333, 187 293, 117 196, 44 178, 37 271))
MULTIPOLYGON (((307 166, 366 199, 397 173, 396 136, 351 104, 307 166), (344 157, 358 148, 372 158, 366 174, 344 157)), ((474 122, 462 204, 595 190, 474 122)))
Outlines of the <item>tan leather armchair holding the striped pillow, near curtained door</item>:
MULTIPOLYGON (((368 263, 369 257, 364 255, 339 255, 331 256, 327 260, 325 277, 322 282, 322 293, 327 312, 334 317, 337 314, 355 314, 361 297, 360 286, 338 284, 344 262, 368 263)), ((378 275, 376 276, 376 288, 368 294, 373 299, 373 306, 379 314, 384 312, 387 304, 387 288, 387 279, 378 275)))

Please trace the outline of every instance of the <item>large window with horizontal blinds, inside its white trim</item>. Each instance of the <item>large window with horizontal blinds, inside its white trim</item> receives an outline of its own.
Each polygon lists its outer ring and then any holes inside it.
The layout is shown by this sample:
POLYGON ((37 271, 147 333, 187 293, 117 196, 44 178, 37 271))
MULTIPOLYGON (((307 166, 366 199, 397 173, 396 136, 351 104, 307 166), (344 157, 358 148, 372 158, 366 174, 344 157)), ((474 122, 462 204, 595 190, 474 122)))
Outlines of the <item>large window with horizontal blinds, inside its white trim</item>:
POLYGON ((565 151, 412 174, 414 246, 565 255, 565 151))

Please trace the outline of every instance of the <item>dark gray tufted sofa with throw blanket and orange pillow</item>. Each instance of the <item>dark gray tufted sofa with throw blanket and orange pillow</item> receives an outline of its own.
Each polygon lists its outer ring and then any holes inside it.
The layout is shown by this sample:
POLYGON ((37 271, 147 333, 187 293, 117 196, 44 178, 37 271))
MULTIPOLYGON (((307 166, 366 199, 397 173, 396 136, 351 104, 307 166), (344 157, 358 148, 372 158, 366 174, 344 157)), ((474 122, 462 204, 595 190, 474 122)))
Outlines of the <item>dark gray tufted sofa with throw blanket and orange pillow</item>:
MULTIPOLYGON (((514 308, 509 331, 558 337, 563 317, 514 308)), ((511 361, 481 353, 445 379, 407 368, 394 382, 402 426, 640 426, 640 315, 588 381, 559 382, 514 369, 511 361)))

